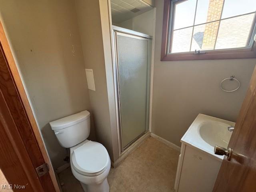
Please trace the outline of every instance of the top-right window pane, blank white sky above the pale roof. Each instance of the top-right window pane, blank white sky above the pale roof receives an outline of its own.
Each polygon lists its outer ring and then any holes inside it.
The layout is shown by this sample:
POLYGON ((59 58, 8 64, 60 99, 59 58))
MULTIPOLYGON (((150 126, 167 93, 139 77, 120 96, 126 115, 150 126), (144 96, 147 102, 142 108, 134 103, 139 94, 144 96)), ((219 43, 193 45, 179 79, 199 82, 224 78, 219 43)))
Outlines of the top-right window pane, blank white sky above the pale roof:
POLYGON ((222 19, 256 11, 256 0, 225 0, 222 19))

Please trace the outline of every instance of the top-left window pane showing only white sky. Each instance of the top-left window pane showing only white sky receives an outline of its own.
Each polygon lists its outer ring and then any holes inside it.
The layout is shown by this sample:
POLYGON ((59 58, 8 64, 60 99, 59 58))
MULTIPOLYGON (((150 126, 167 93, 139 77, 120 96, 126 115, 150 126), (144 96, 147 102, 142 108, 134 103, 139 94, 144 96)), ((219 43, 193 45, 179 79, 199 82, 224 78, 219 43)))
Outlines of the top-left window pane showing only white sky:
POLYGON ((176 4, 174 17, 174 30, 194 24, 196 0, 187 0, 176 4))

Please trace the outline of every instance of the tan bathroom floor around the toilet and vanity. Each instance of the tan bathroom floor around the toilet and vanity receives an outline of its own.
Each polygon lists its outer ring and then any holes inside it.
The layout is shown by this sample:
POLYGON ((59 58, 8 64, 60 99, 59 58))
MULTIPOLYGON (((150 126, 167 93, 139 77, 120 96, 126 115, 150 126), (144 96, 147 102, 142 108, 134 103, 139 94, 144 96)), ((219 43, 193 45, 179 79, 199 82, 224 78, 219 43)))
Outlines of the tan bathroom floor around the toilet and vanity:
MULTIPOLYGON (((179 152, 147 138, 108 175, 110 192, 174 192, 179 152)), ((83 192, 70 168, 59 174, 63 192, 83 192)))

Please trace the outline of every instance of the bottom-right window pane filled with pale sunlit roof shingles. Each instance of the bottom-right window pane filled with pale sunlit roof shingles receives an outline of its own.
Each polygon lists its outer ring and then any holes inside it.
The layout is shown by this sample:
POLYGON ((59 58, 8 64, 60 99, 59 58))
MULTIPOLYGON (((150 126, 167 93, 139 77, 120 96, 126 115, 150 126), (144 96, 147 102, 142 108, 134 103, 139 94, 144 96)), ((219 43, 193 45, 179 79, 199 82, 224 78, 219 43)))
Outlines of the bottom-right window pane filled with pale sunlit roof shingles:
POLYGON ((222 20, 216 49, 245 47, 253 18, 254 13, 222 20))

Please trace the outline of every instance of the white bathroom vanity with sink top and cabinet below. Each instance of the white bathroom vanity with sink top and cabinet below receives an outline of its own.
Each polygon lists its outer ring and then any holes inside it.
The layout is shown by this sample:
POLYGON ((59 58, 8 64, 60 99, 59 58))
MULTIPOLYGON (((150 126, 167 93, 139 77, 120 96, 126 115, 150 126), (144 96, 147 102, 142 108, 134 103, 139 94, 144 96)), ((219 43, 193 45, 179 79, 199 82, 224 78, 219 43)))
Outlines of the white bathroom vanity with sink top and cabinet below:
POLYGON ((176 192, 212 192, 224 156, 214 146, 227 148, 234 122, 198 114, 181 139, 176 192))

